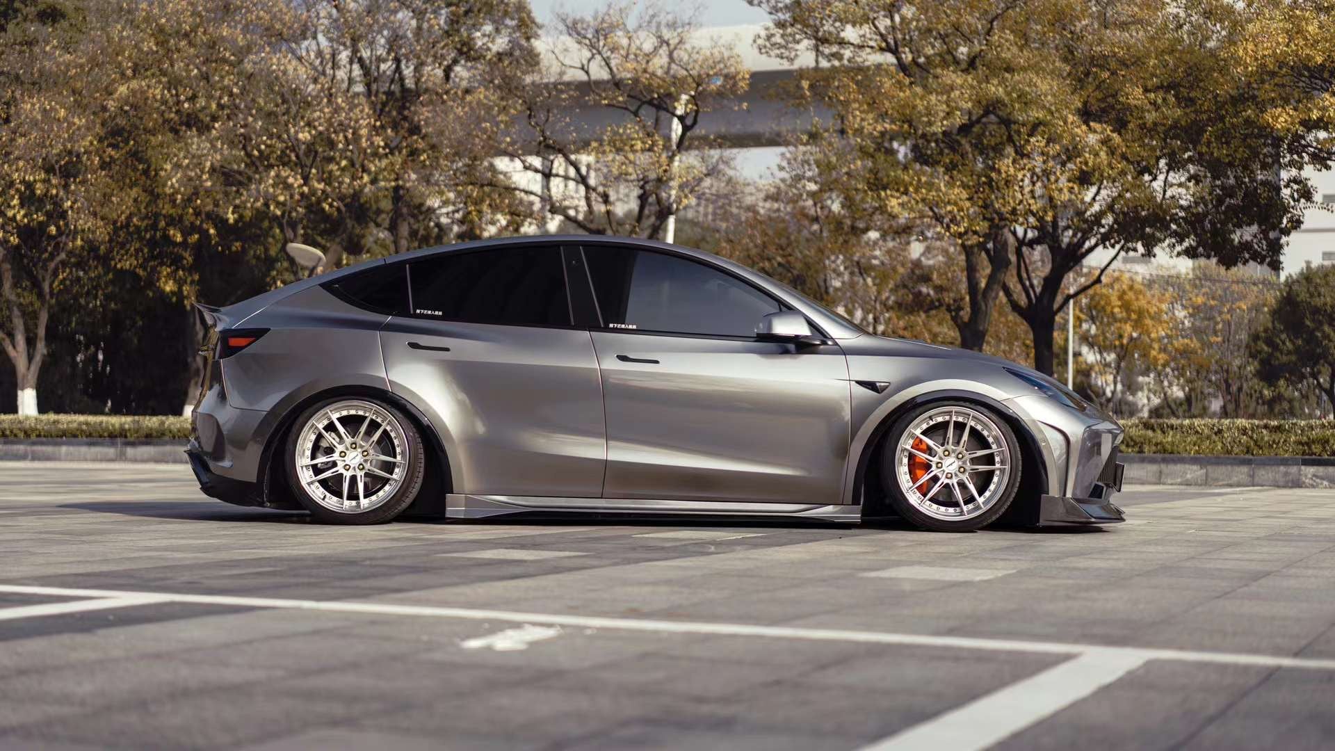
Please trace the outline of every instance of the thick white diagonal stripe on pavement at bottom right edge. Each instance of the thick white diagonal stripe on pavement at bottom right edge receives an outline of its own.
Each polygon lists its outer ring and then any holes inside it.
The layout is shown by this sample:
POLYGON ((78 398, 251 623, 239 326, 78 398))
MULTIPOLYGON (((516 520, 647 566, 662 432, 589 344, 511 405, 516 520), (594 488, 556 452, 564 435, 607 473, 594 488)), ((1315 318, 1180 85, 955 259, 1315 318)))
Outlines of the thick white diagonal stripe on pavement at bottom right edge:
POLYGON ((1125 649, 1092 649, 897 732, 862 751, 977 751, 1039 723, 1145 664, 1125 649))

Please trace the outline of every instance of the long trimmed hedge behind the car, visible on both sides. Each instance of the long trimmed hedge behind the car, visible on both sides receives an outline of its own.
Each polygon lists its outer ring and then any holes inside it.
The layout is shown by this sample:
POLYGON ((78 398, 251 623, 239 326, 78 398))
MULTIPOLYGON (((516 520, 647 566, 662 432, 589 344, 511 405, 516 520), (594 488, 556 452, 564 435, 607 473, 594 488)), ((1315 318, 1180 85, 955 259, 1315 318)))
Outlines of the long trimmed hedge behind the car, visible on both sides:
MULTIPOLYGON (((1127 453, 1335 457, 1335 420, 1124 420, 1123 426, 1127 453)), ((188 417, 0 414, 0 438, 188 437, 188 417)))

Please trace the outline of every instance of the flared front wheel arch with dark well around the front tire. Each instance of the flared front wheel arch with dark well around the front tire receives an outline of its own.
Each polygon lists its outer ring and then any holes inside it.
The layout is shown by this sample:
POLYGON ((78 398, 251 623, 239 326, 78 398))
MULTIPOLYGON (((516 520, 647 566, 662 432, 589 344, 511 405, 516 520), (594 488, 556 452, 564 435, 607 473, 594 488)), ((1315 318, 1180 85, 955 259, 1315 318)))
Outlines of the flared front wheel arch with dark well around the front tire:
MULTIPOLYGON (((1023 514, 1028 505, 1036 504, 1040 494, 1051 493, 1051 477, 1063 477, 1064 469, 1057 465, 1056 454, 1048 444, 1047 434, 1037 422, 1008 404, 1008 394, 977 381, 940 380, 909 386, 888 394, 853 429, 849 445, 849 462, 844 476, 844 502, 862 504, 878 488, 868 486, 868 477, 874 472, 878 449, 886 440, 890 425, 898 417, 917 406, 939 401, 967 401, 997 413, 1020 440, 1023 472, 1020 492, 1012 506, 1016 514, 1023 514)), ((1008 512, 1008 516, 1011 512, 1008 512)))

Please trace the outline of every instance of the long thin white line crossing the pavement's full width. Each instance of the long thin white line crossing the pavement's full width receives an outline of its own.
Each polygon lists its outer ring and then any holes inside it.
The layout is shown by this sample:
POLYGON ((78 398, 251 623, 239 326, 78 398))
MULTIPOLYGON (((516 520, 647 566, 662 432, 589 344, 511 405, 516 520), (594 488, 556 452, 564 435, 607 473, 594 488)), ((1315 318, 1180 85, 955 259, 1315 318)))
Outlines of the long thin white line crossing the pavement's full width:
POLYGON ((930 633, 848 631, 840 628, 801 628, 790 625, 753 625, 742 623, 650 620, 562 613, 523 613, 514 611, 485 611, 477 608, 446 608, 437 605, 399 605, 394 603, 358 603, 348 600, 286 600, 276 597, 238 597, 231 595, 188 595, 176 592, 134 592, 120 589, 73 589, 64 587, 31 587, 19 584, 0 584, 0 592, 9 592, 15 595, 51 595, 56 597, 143 597, 146 600, 155 601, 230 605, 238 608, 453 617, 462 620, 499 620, 518 624, 535 623, 546 625, 613 628, 619 631, 646 631, 659 633, 760 636, 768 639, 802 639, 809 641, 856 641, 861 644, 944 647, 951 649, 981 649, 989 652, 1029 652, 1035 655, 1080 656, 1088 652, 1125 653, 1135 655, 1144 660, 1179 660, 1185 663, 1335 671, 1335 659, 1288 657, 1283 655, 1254 655, 1243 652, 1200 652, 1192 649, 1161 649, 1153 647, 1105 647, 1100 644, 1080 644, 1076 641, 1027 641, 1023 639, 937 636, 930 633))

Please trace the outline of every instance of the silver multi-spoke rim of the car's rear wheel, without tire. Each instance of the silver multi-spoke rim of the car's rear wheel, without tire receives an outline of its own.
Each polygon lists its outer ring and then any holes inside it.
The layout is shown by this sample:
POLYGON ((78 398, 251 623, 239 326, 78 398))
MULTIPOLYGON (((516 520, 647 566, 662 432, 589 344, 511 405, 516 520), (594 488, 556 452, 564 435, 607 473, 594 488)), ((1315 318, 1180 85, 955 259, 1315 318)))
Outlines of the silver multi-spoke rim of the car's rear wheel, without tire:
POLYGON ((306 421, 294 460, 296 482, 308 498, 335 513, 363 513, 383 505, 403 485, 407 440, 403 426, 384 408, 344 400, 326 405, 306 421), (356 425, 355 432, 344 426, 344 420, 356 425), (331 493, 322 484, 328 478, 338 480, 342 493, 331 493), (368 480, 383 482, 367 494, 368 480))

